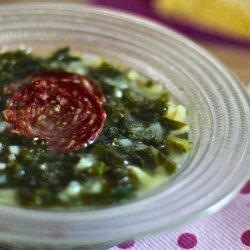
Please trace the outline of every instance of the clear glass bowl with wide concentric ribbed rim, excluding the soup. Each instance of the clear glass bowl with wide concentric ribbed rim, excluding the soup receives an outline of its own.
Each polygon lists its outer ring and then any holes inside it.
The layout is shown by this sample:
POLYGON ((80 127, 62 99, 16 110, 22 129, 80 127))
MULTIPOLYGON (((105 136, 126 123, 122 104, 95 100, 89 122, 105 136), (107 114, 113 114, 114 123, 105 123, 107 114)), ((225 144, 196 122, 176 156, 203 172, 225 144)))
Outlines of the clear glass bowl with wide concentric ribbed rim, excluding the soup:
POLYGON ((2 5, 2 49, 22 44, 39 53, 70 46, 161 82, 188 107, 193 149, 172 181, 124 205, 84 212, 0 205, 1 242, 14 249, 105 248, 216 211, 249 176, 247 94, 220 62, 185 37, 142 18, 84 5, 2 5))

